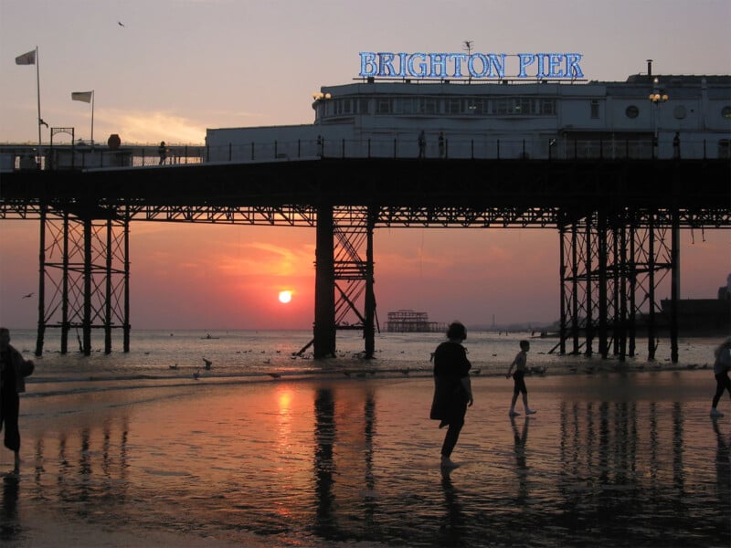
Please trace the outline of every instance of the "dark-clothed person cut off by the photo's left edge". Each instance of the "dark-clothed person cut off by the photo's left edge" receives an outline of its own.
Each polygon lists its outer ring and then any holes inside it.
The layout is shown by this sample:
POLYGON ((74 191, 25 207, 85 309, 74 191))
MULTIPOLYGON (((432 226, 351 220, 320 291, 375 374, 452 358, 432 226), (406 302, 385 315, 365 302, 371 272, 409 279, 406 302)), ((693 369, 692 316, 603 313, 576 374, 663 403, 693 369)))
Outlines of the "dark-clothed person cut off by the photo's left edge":
POLYGON ((34 369, 33 362, 10 345, 10 331, 0 327, 0 429, 5 427, 5 447, 15 453, 16 473, 20 469, 19 394, 26 391, 26 376, 34 369))

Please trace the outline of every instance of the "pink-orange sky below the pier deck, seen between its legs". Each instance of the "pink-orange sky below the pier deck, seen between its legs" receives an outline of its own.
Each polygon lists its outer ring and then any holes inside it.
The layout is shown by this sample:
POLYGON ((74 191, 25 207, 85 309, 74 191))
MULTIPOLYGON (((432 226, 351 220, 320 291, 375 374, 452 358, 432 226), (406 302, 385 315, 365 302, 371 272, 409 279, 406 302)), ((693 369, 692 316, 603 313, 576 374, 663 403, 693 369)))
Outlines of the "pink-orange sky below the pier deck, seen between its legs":
MULTIPOLYGON (((0 324, 33 327, 37 221, 0 221, 0 324)), ((310 329, 314 230, 132 222, 132 327, 310 329), (290 303, 278 300, 292 290, 290 303)), ((682 233, 682 297, 715 298, 726 283, 731 232, 682 233)), ((387 312, 491 325, 558 319, 558 235, 553 229, 380 228, 376 302, 387 312), (468 243, 466 243, 468 242, 468 243)), ((667 284, 658 297, 669 297, 667 284)))

